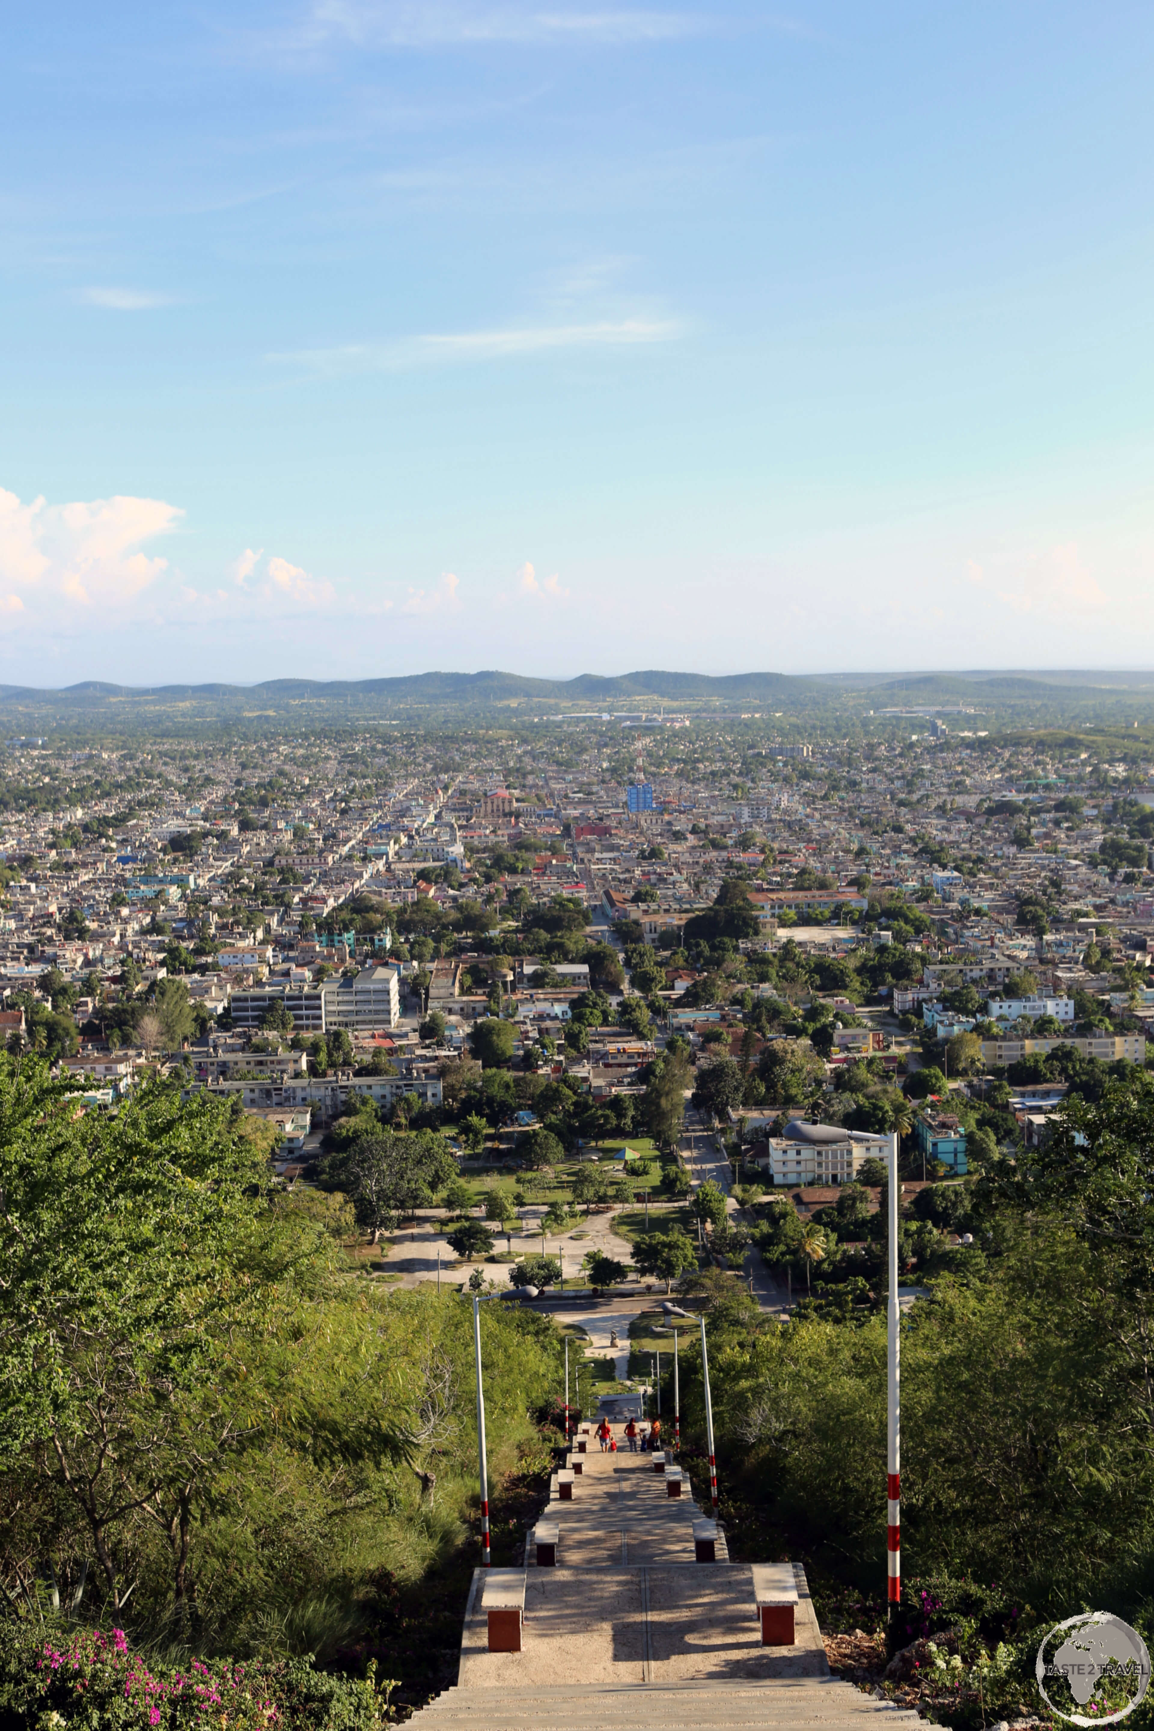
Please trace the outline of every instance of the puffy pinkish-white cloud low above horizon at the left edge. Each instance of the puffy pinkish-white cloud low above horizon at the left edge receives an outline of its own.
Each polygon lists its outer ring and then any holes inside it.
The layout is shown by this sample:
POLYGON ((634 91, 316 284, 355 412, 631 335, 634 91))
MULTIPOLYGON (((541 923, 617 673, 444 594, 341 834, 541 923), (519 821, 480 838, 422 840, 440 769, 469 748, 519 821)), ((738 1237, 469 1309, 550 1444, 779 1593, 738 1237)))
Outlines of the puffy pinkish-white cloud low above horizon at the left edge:
POLYGON ((170 533, 183 511, 163 499, 76 500, 24 505, 0 488, 0 590, 5 611, 73 606, 116 608, 135 601, 168 559, 140 552, 142 542, 170 533))

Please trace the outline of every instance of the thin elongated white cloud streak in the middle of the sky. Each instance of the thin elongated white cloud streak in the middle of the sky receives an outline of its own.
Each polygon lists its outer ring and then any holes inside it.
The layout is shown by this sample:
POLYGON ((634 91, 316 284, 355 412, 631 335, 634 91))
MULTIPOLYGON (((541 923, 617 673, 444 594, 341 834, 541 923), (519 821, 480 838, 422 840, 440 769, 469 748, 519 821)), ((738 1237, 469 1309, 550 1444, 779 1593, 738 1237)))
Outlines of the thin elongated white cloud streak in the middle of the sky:
POLYGON ((673 319, 616 319, 597 324, 521 325, 502 331, 446 331, 407 338, 401 343, 346 343, 336 348, 303 348, 268 355, 272 362, 294 362, 311 372, 401 372, 408 367, 438 367, 472 360, 512 360, 559 348, 630 348, 671 343, 682 336, 673 319))

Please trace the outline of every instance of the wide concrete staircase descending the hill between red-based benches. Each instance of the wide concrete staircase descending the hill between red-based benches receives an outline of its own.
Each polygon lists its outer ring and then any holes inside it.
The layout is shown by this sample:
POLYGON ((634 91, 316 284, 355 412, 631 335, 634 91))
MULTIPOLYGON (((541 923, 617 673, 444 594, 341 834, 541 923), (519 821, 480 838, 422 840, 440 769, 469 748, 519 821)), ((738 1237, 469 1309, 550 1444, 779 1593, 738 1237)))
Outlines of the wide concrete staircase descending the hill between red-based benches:
POLYGON ((458 1683, 422 1708, 427 1731, 631 1731, 640 1717, 661 1731, 920 1726, 830 1677, 798 1565, 794 1644, 763 1646, 751 1565, 730 1563, 723 1539, 715 1563, 694 1560, 702 1509, 687 1478, 666 1496, 649 1454, 587 1454, 573 1501, 554 1482, 543 1518, 561 1527, 557 1567, 529 1551, 523 1650, 488 1651, 476 1570, 458 1683))

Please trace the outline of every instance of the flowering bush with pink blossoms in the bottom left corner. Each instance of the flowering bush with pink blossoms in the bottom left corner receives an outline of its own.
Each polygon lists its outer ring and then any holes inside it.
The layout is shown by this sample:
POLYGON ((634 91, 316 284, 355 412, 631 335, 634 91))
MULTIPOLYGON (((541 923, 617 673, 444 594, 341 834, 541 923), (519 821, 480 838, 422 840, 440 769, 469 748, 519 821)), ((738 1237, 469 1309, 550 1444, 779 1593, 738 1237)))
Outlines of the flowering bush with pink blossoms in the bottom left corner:
MULTIPOLYGON (((372 1667, 370 1667, 372 1672, 372 1667)), ((5 1624, 0 1634, 0 1719, 5 1726, 161 1726, 183 1731, 208 1719, 230 1731, 375 1731, 389 1721, 388 1691, 372 1674, 356 1683, 315 1670, 311 1658, 149 1662, 123 1629, 80 1634, 5 1624), (216 1712, 213 1712, 216 1708, 216 1712)))

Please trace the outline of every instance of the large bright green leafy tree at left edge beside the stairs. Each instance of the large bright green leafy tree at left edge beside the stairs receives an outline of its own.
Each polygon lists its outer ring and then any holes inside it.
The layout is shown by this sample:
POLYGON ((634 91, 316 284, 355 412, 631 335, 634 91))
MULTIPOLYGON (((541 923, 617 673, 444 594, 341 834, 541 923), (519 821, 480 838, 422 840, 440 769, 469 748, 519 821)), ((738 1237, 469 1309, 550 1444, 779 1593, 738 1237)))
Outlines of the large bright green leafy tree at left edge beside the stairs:
MULTIPOLYGON (((138 1554, 152 1523, 180 1608, 209 1489, 272 1433, 289 1291, 320 1297, 325 1234, 270 1194, 223 1103, 151 1082, 116 1115, 81 1116, 35 1059, 0 1058, 0 1191, 7 1494, 19 1482, 57 1534, 83 1535, 112 1612, 131 1587, 125 1534, 138 1554)), ((344 1350, 334 1316, 327 1333, 344 1350)), ((403 1452, 396 1430, 379 1442, 403 1452)))

